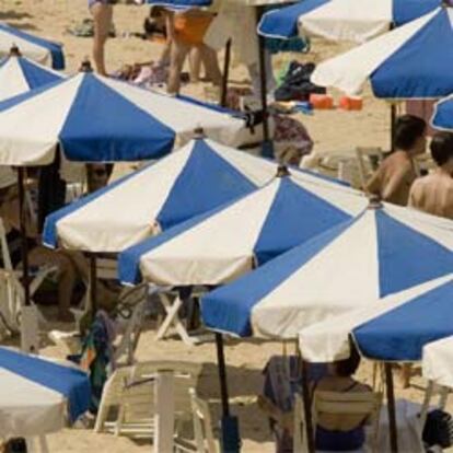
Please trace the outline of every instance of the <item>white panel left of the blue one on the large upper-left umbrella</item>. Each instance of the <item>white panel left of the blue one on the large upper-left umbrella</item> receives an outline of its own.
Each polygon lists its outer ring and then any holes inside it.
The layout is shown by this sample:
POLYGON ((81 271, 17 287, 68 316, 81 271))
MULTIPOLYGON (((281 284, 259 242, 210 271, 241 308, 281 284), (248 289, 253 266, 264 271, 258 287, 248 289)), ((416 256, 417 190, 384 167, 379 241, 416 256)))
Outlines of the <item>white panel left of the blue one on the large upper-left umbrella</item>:
POLYGON ((2 112, 1 165, 46 165, 53 162, 58 133, 80 86, 82 74, 2 112), (45 108, 37 115, 37 106, 45 108), (26 128, 27 133, 24 133, 26 128))

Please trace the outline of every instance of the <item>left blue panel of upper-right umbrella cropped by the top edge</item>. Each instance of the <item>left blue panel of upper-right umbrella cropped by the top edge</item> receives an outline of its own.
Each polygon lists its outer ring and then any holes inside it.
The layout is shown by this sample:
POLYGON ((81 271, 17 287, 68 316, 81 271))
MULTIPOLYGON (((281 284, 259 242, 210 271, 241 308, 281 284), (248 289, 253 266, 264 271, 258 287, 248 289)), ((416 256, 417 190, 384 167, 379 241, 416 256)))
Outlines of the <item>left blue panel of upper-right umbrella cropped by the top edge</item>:
MULTIPOLYGON (((291 7, 283 7, 266 13, 258 26, 258 33, 265 36, 291 38, 299 36, 299 18, 323 7, 332 0, 304 0, 291 7)), ((301 18, 303 22, 303 18, 301 18)))

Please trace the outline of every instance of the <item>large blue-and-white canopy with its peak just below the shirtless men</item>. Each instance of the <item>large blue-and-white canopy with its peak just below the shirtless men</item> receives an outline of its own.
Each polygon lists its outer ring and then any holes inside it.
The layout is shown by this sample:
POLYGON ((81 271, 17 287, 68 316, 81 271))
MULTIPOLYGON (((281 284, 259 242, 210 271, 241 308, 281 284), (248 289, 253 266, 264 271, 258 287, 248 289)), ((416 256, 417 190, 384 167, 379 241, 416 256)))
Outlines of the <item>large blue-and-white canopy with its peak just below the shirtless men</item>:
POLYGON ((451 272, 452 232, 453 222, 445 219, 392 205, 372 206, 208 293, 204 321, 239 336, 293 338, 327 316, 451 272))

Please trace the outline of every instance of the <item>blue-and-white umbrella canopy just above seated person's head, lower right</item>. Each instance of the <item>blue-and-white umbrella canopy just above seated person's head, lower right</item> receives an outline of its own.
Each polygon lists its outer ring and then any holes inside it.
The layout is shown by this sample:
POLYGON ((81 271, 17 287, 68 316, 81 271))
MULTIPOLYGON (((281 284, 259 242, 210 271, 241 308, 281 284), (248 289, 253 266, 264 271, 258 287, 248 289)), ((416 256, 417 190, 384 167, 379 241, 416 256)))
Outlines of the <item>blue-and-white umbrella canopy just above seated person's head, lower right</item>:
POLYGON ((382 361, 418 361, 425 345, 453 335, 453 274, 304 328, 302 355, 310 361, 349 356, 349 337, 361 355, 382 361))

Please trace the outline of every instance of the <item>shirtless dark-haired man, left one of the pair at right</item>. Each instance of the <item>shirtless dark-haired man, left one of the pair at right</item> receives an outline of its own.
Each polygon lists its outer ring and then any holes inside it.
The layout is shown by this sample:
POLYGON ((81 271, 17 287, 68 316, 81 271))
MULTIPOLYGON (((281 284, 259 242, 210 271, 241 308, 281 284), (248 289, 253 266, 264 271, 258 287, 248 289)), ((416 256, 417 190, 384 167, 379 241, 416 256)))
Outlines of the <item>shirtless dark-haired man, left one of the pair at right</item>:
POLYGON ((417 177, 414 158, 426 148, 426 123, 413 115, 400 116, 395 125, 395 151, 380 165, 365 190, 382 200, 406 206, 417 177))

